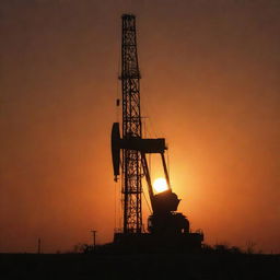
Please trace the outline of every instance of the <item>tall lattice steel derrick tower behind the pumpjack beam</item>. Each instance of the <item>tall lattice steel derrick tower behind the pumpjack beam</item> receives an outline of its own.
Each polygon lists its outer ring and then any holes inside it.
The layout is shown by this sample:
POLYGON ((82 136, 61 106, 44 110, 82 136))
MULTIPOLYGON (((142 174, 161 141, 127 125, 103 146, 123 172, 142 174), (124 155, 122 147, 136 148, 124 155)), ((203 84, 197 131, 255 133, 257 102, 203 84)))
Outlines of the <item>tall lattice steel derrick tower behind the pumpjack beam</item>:
MULTIPOLYGON (((142 138, 140 114, 140 71, 137 56, 136 16, 124 14, 121 42, 122 139, 142 138)), ((140 233, 141 210, 141 153, 122 150, 122 207, 124 233, 140 233)))

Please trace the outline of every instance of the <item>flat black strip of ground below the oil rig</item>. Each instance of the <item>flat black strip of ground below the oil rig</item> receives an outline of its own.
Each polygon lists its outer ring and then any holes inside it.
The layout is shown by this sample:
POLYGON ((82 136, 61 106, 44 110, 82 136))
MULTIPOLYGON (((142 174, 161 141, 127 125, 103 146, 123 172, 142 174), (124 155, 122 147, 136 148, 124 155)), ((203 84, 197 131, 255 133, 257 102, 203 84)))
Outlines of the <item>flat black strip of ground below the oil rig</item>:
POLYGON ((280 255, 0 254, 0 279, 280 279, 280 255))

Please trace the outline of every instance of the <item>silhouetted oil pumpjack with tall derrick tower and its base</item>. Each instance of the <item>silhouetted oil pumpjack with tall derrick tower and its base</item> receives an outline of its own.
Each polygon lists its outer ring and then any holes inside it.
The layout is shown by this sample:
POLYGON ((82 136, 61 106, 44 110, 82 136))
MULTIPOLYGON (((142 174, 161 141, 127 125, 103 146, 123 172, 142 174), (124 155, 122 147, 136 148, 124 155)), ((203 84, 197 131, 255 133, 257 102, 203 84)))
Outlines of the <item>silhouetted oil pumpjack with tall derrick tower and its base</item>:
MULTIPOLYGON (((113 124, 112 155, 115 180, 121 170, 122 229, 115 233, 114 243, 154 248, 200 248, 201 232, 191 233, 187 218, 177 212, 179 199, 172 191, 165 162, 165 139, 142 138, 140 114, 140 71, 137 56, 136 18, 124 14, 121 43, 122 127, 113 124), (155 194, 151 183, 147 154, 161 155, 167 190, 155 194), (121 164, 120 164, 121 163, 121 164), (121 168, 120 168, 121 167, 121 168), (148 233, 142 224, 142 177, 145 177, 152 214, 148 233)), ((119 103, 119 101, 117 101, 119 103)))

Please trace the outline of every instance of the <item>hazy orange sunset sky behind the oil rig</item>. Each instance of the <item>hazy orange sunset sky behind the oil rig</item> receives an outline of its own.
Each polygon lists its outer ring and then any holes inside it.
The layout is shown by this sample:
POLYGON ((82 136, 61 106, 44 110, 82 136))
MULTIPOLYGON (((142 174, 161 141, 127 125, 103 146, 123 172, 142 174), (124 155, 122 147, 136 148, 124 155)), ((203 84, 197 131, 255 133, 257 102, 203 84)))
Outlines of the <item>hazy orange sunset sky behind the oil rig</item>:
POLYGON ((38 237, 65 252, 119 226, 109 133, 125 12, 179 211, 206 243, 280 253, 278 0, 2 0, 0 252, 35 252, 38 237))

